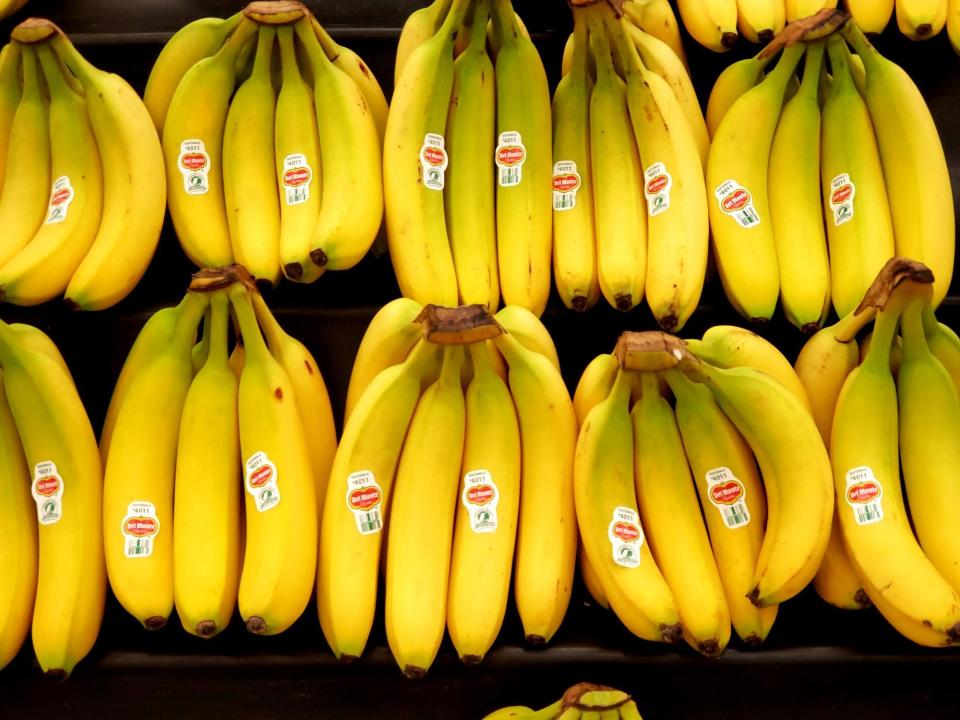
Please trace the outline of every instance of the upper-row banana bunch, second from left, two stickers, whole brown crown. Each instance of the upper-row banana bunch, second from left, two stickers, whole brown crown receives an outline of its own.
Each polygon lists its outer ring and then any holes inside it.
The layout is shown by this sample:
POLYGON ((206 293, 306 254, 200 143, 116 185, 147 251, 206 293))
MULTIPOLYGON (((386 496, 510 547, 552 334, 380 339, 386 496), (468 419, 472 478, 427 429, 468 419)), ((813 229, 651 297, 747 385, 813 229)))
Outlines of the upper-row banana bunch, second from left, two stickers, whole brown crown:
POLYGON ((366 255, 383 214, 387 102, 301 3, 190 23, 160 53, 144 99, 170 215, 198 266, 312 282, 366 255))

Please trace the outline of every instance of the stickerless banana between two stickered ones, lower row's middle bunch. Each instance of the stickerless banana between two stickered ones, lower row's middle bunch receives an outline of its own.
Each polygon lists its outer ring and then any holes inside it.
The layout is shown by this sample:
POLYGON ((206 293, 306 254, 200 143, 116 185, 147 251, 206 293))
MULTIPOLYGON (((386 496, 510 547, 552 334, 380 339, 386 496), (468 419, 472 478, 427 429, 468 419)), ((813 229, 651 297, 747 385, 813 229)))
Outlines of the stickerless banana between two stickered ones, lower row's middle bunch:
POLYGON ((423 677, 433 664, 446 625, 463 460, 463 353, 458 345, 444 349, 440 377, 420 398, 390 503, 384 616, 390 650, 409 678, 423 677))

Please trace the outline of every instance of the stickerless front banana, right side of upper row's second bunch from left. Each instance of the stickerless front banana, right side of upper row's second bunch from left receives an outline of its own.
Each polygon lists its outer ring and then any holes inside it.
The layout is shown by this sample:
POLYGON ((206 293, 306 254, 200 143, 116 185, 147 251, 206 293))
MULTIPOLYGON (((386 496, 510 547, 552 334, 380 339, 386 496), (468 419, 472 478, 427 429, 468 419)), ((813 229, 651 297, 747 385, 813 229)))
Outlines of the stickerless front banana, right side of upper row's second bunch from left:
POLYGON ((313 72, 323 158, 310 258, 328 270, 347 270, 367 254, 383 219, 380 136, 360 88, 323 52, 309 18, 294 27, 313 72))

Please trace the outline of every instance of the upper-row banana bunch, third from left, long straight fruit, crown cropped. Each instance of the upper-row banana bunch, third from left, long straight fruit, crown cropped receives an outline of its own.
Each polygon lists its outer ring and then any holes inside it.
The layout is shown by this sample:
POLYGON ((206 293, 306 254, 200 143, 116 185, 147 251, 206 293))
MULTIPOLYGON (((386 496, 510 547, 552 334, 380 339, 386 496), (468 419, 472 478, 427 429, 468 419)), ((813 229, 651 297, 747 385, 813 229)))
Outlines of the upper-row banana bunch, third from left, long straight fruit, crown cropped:
POLYGON ((550 294, 550 91, 510 0, 435 0, 404 24, 383 155, 406 297, 540 315, 550 294))

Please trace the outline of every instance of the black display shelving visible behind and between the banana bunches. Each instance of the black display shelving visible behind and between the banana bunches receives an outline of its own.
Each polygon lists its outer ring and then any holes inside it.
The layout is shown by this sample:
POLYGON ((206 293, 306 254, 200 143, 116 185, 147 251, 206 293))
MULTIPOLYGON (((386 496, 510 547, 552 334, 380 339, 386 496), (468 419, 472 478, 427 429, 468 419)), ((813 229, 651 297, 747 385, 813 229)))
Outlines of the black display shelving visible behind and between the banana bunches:
MULTIPOLYGON (((389 97, 400 28, 423 0, 307 0, 339 41, 370 64, 389 97)), ((162 44, 187 22, 226 17, 239 0, 31 0, 0 23, 6 38, 16 22, 34 15, 56 22, 96 66, 117 72, 138 91, 162 44)), ((570 14, 562 0, 514 3, 540 48, 551 87, 570 14)), ((960 59, 945 37, 912 43, 895 25, 877 40, 900 63, 930 105, 950 166, 960 207, 960 59)), ((757 51, 745 42, 715 55, 684 37, 693 80, 705 104, 716 76, 730 62, 757 51)), ((145 319, 183 294, 192 266, 169 221, 144 280, 117 307, 77 314, 51 304, 0 307, 6 321, 33 323, 48 332, 73 371, 94 428, 99 429, 113 383, 145 319)), ((960 327, 960 282, 940 319, 960 327)), ((370 318, 399 294, 389 259, 368 256, 346 273, 328 273, 309 286, 285 282, 267 300, 281 324, 313 351, 327 381, 338 422, 347 380, 370 318)), ((583 315, 554 295, 544 323, 557 344, 571 390, 587 362, 609 352, 622 330, 651 329, 646 307, 620 314, 603 303, 583 315)), ((699 336, 711 325, 743 324, 715 274, 701 307, 681 333, 699 336)), ((803 337, 778 315, 760 330, 791 359, 803 337)), ((281 636, 252 637, 239 621, 205 641, 183 632, 176 618, 148 633, 112 599, 100 639, 70 680, 55 683, 35 666, 29 642, 0 672, 0 718, 96 717, 132 713, 149 718, 369 718, 402 720, 476 718, 497 707, 534 707, 555 700, 579 681, 605 683, 634 695, 648 720, 667 718, 824 718, 960 716, 960 652, 926 650, 902 639, 875 612, 849 613, 825 605, 808 589, 781 608, 764 647, 734 641, 707 660, 689 648, 667 648, 633 638, 611 614, 594 607, 579 585, 568 617, 550 645, 529 649, 513 608, 501 639, 478 667, 465 667, 446 642, 425 679, 402 677, 382 630, 382 614, 369 650, 341 665, 327 649, 314 606, 281 636)))

